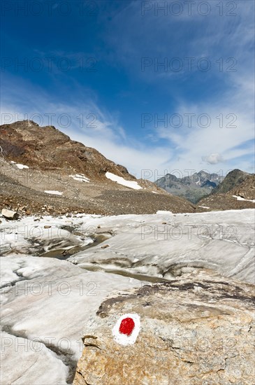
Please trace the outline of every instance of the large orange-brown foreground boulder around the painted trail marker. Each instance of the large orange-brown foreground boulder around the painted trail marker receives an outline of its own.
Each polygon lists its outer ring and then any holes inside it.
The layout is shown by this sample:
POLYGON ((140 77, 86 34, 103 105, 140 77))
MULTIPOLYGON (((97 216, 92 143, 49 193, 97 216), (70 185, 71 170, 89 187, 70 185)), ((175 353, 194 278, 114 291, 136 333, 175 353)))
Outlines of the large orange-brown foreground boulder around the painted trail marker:
POLYGON ((200 270, 108 297, 84 330, 73 385, 252 385, 254 295, 251 284, 200 270), (123 314, 135 320, 130 337, 140 316, 126 346, 112 335, 123 314))

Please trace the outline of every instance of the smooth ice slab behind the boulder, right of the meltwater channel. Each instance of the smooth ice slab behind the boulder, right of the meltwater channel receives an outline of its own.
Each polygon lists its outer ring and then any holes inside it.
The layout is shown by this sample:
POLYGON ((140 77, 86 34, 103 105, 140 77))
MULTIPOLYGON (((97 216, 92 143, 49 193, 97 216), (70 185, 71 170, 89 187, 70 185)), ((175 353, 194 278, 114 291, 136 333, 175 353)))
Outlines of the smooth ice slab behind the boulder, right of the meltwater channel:
POLYGON ((70 258, 78 264, 169 278, 185 267, 214 269, 254 283, 254 209, 200 214, 112 216, 94 223, 116 234, 70 258), (166 223, 166 224, 163 224, 166 223))

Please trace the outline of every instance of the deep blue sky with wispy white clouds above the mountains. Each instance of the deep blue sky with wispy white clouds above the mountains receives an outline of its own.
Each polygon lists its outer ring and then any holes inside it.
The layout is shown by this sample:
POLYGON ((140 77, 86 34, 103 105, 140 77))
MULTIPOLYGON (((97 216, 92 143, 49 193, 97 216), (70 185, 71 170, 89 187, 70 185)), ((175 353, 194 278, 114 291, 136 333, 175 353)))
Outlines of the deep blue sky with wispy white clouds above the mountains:
POLYGON ((51 123, 138 178, 254 172, 254 1, 2 1, 1 19, 2 123, 51 123))

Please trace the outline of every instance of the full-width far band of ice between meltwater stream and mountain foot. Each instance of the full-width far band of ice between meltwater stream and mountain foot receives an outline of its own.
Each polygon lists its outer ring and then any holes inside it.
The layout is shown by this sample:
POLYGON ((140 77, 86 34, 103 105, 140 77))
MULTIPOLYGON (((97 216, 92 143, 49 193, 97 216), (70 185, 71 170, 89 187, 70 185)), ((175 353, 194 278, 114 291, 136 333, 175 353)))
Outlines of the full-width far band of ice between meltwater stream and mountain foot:
POLYGON ((176 266, 201 266, 251 281, 254 273, 251 256, 254 251, 254 209, 199 214, 160 212, 108 217, 86 214, 72 218, 47 216, 41 222, 28 217, 11 224, 3 219, 0 226, 2 253, 31 255, 38 247, 48 251, 72 245, 84 246, 89 239, 92 241, 92 233, 96 233, 100 226, 101 232, 110 229, 115 235, 103 244, 76 253, 70 258, 72 262, 89 268, 109 267, 161 277, 170 276, 176 266), (49 224, 52 227, 45 229, 44 226, 49 224), (104 244, 109 247, 101 248, 104 244))

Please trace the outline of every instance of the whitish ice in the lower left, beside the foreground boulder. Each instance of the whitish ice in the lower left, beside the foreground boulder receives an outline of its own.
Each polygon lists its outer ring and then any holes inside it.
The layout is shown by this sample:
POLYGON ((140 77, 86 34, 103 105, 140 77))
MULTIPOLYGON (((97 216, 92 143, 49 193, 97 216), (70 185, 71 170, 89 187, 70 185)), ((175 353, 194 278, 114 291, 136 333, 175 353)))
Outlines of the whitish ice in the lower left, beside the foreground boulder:
POLYGON ((75 368, 83 349, 82 330, 102 300, 114 291, 140 286, 140 281, 135 279, 87 272, 66 260, 23 255, 1 257, 0 261, 4 286, 1 289, 2 330, 13 339, 39 341, 44 346, 38 353, 30 342, 27 352, 22 346, 18 346, 17 351, 13 351, 13 344, 3 346, 2 361, 6 370, 2 384, 6 385, 66 384, 66 365, 75 368), (57 356, 52 351, 56 351, 57 356), (14 371, 9 369, 13 363, 14 371), (34 365, 36 369, 37 363, 36 382, 29 367, 34 365), (45 377, 40 379, 41 375, 45 377), (19 376, 19 382, 15 382, 19 376))

